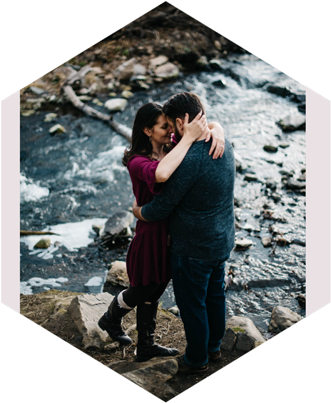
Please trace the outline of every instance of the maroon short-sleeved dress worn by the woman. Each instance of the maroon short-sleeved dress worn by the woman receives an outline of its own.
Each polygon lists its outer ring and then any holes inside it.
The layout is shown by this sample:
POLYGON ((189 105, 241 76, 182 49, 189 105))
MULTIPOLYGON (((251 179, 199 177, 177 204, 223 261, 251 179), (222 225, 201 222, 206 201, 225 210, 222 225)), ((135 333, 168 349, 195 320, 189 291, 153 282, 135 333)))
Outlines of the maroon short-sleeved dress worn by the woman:
MULTIPOLYGON (((141 155, 132 156, 128 161, 127 168, 138 206, 152 201, 163 188, 163 183, 155 181, 159 162, 141 155)), ((170 281, 168 233, 168 219, 156 222, 137 221, 136 234, 126 257, 126 269, 131 286, 170 281)))

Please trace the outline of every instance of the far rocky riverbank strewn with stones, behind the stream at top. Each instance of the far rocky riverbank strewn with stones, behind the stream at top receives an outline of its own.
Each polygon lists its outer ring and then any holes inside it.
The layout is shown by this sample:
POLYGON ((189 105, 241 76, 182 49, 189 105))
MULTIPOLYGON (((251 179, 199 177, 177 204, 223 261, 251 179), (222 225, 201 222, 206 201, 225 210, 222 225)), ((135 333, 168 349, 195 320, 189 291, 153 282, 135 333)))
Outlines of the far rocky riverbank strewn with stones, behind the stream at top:
POLYGON ((63 82, 83 66, 91 71, 73 84, 79 99, 101 106, 96 94, 108 94, 113 99, 104 105, 117 111, 132 91, 176 79, 181 72, 217 69, 220 59, 234 51, 245 49, 165 2, 24 86, 21 114, 66 103, 63 82))

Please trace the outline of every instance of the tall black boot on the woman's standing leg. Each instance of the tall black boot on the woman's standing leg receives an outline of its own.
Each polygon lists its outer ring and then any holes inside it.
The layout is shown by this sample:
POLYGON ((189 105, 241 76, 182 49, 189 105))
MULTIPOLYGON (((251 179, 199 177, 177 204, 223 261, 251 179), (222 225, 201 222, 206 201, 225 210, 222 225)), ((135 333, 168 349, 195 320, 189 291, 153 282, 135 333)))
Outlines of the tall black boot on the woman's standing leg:
POLYGON ((153 357, 170 357, 178 354, 177 349, 168 349, 156 344, 154 334, 158 302, 137 306, 137 361, 144 362, 153 357))

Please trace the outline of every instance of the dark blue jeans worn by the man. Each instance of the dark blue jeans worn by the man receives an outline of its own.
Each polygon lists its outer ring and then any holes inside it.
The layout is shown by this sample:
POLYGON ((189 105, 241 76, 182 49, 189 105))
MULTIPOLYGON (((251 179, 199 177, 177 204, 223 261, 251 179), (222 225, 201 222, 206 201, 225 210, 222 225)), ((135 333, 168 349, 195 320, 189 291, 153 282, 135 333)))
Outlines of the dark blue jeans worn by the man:
POLYGON ((228 257, 201 260, 171 254, 173 291, 187 341, 186 364, 205 365, 208 352, 220 348, 225 333, 224 276, 228 257))

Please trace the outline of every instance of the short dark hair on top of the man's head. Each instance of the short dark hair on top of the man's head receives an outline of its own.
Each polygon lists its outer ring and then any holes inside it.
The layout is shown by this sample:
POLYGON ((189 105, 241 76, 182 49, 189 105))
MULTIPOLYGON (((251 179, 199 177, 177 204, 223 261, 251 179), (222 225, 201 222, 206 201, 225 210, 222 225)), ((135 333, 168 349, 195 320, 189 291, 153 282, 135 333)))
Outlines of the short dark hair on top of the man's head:
POLYGON ((187 113, 189 115, 189 122, 193 121, 201 110, 203 114, 205 114, 205 107, 200 101, 200 98, 192 92, 181 92, 180 94, 171 96, 162 108, 163 114, 173 121, 178 117, 184 120, 185 114, 187 113))

